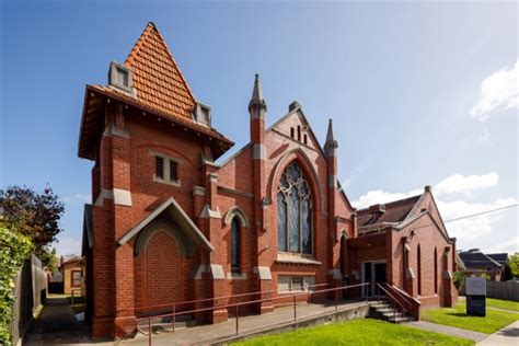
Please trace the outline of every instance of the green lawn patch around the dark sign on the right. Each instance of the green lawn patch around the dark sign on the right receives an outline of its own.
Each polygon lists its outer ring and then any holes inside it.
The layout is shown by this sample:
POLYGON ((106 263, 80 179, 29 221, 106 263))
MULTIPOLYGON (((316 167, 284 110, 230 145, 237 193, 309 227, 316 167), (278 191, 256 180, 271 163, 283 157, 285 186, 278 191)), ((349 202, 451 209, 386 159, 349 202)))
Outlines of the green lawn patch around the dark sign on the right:
POLYGON ((519 320, 519 314, 499 310, 486 309, 486 316, 468 316, 465 303, 454 308, 429 309, 422 312, 422 320, 438 324, 451 325, 464 330, 492 334, 519 320))

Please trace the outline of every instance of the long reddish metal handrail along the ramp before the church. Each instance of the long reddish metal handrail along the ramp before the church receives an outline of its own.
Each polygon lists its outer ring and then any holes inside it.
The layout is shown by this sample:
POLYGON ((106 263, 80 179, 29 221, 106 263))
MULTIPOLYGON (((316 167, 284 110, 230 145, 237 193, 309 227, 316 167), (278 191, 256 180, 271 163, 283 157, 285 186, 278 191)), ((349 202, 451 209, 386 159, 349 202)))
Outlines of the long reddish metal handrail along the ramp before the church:
MULTIPOLYGON (((239 334, 239 318, 240 318, 240 307, 247 305, 247 304, 254 304, 254 303, 261 303, 264 301, 274 301, 274 300, 281 300, 281 299, 287 299, 287 298, 292 298, 292 304, 293 304, 293 321, 297 321, 297 308, 296 308, 296 302, 297 302, 297 297, 302 297, 307 296, 310 297, 310 295, 315 295, 315 293, 324 293, 324 292, 331 292, 331 291, 337 291, 337 290, 344 290, 348 288, 355 288, 355 287, 362 287, 370 285, 371 282, 364 282, 364 284, 357 284, 357 285, 349 285, 349 286, 342 286, 342 287, 334 287, 334 288, 327 288, 327 289, 322 289, 322 290, 315 290, 315 291, 307 291, 307 292, 300 292, 300 293, 292 293, 292 295, 285 295, 285 296, 279 296, 279 297, 272 297, 272 298, 266 298, 266 299, 257 299, 257 300, 252 300, 252 301, 245 301, 245 302, 238 302, 238 303, 231 303, 231 304, 224 304, 224 305, 217 305, 217 307, 209 307, 209 308, 201 308, 201 309, 194 309, 189 311, 181 311, 181 312, 173 312, 173 313, 164 313, 160 315, 154 315, 154 316, 146 316, 146 318, 140 318, 136 319, 136 327, 137 331, 139 331, 141 334, 148 336, 148 344, 151 345, 151 336, 152 336, 152 324, 151 321, 155 319, 164 319, 164 318, 172 318, 172 326, 173 331, 175 330, 175 316, 177 315, 183 315, 183 314, 191 314, 191 313, 196 313, 196 312, 206 312, 206 311, 215 311, 217 309, 228 309, 228 308, 234 308, 234 313, 235 313, 235 335, 239 334), (148 321, 148 331, 143 331, 140 326, 139 323, 142 321, 148 321)), ((321 284, 322 286, 323 284, 321 284)), ((327 285, 327 284, 326 284, 327 285)), ((368 296, 366 296, 366 301, 368 301, 368 296)), ((335 295, 335 310, 337 311, 337 297, 335 295)))

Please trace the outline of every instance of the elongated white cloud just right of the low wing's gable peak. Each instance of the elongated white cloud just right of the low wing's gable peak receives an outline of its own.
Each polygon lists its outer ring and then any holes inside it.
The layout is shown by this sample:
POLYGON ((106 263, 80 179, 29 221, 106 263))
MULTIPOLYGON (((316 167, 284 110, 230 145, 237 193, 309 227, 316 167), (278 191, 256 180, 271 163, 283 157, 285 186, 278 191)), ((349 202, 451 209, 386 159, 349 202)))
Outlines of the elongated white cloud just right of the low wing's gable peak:
POLYGON ((496 186, 498 182, 499 174, 497 174, 497 172, 469 176, 452 174, 439 182, 434 191, 436 196, 453 193, 468 193, 496 186))

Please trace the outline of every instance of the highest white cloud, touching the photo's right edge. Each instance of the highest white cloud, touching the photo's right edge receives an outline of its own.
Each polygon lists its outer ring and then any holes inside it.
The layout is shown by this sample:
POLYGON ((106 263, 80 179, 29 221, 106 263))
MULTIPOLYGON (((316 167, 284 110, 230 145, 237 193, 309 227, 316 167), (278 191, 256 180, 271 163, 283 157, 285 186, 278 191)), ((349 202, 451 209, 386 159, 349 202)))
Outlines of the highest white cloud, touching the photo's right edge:
POLYGON ((493 113, 505 109, 519 109, 519 60, 511 69, 494 72, 481 83, 477 104, 469 112, 480 120, 487 119, 493 113))

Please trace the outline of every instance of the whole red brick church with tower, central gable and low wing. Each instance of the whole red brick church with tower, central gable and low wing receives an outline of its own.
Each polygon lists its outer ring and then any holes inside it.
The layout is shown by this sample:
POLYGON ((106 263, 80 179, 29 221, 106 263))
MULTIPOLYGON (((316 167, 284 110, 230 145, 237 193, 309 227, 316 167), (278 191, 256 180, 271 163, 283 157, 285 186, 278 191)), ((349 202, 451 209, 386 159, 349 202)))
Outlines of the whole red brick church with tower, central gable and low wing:
POLYGON ((319 284, 370 281, 373 293, 387 281, 424 305, 452 304, 455 240, 430 188, 356 210, 337 180, 332 120, 324 146, 297 102, 267 127, 257 76, 247 111, 250 142, 219 160, 234 143, 152 23, 111 64, 107 85, 86 85, 79 157, 93 162, 83 254, 94 335, 132 333, 150 307, 319 284))

